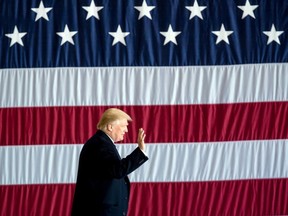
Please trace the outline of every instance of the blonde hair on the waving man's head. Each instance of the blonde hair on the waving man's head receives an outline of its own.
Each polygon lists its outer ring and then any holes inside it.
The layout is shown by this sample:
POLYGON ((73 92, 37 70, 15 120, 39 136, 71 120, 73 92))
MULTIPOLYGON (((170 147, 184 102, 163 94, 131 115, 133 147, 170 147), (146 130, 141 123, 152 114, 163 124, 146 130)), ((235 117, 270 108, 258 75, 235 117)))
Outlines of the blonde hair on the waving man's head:
POLYGON ((108 124, 122 119, 132 121, 132 118, 124 111, 117 108, 109 108, 102 114, 101 119, 97 124, 97 129, 105 130, 108 124))

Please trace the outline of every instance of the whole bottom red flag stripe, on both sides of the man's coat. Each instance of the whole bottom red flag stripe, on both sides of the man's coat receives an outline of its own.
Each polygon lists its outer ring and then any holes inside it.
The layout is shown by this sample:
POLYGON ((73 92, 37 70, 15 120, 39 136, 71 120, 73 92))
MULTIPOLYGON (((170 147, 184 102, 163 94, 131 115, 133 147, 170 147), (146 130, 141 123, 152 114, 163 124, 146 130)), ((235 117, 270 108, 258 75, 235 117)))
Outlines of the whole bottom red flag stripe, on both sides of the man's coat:
MULTIPOLYGON (((0 186, 0 215, 68 216, 74 184, 0 186)), ((287 215, 288 179, 132 183, 129 215, 287 215)))

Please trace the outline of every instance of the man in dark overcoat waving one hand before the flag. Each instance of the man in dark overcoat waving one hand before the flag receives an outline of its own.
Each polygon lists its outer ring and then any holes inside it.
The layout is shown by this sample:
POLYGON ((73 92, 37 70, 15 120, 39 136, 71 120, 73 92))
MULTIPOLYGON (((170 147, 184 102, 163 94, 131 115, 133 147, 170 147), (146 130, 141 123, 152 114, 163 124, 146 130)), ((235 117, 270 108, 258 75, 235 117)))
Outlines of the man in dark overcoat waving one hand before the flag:
POLYGON ((121 159, 115 142, 124 139, 131 117, 122 110, 106 110, 97 132, 84 144, 79 158, 73 216, 127 215, 130 182, 127 175, 140 167, 145 155, 145 133, 138 132, 138 147, 121 159))

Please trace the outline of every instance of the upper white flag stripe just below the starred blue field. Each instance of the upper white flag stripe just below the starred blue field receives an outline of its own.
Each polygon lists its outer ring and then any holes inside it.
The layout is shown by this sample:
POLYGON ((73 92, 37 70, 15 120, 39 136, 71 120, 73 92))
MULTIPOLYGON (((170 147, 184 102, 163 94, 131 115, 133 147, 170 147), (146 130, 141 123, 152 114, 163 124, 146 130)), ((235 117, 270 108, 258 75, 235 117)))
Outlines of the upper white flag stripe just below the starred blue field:
POLYGON ((0 107, 288 100, 288 63, 0 69, 0 107))

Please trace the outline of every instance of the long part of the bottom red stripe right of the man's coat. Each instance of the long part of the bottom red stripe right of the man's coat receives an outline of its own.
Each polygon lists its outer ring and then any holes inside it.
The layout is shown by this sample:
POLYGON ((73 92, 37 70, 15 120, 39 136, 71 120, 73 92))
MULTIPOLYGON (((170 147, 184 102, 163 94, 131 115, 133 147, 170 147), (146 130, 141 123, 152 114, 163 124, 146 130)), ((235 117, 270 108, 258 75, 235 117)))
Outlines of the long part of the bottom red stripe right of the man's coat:
POLYGON ((288 179, 134 183, 130 215, 287 215, 288 179))

